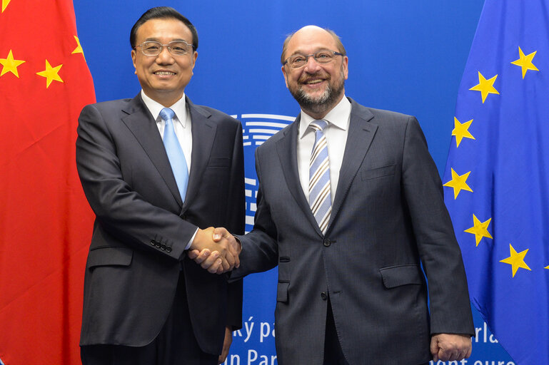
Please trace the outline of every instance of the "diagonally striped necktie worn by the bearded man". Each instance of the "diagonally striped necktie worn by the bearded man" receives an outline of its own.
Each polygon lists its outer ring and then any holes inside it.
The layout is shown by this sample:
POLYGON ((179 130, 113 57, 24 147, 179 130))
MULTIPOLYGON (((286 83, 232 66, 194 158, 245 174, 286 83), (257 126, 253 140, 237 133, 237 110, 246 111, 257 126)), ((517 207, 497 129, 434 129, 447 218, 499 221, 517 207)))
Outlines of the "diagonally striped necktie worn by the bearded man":
POLYGON ((332 212, 328 143, 322 131, 327 125, 326 120, 313 120, 310 124, 315 130, 315 144, 309 163, 309 205, 323 233, 326 233, 332 212))

